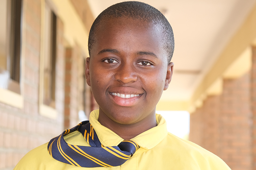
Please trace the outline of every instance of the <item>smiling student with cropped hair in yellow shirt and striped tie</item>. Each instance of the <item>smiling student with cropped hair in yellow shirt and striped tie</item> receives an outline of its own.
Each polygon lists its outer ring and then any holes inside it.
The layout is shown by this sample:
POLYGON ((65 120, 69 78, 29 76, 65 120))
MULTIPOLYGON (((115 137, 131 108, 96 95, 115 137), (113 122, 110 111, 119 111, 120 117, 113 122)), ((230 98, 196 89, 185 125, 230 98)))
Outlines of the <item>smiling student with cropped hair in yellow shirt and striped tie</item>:
POLYGON ((26 154, 15 170, 230 170, 222 159, 167 132, 155 114, 172 78, 172 28, 136 1, 104 10, 88 40, 86 81, 99 104, 89 121, 26 154))

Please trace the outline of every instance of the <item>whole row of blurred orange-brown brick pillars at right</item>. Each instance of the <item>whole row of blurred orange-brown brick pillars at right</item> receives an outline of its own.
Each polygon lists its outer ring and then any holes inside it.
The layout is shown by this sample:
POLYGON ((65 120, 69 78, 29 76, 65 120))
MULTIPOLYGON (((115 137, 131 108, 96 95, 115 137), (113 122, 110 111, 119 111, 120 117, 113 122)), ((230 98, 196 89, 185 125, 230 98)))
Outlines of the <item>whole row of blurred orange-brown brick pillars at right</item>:
POLYGON ((191 114, 189 139, 221 157, 232 170, 250 170, 251 74, 223 81, 223 93, 208 97, 191 114))

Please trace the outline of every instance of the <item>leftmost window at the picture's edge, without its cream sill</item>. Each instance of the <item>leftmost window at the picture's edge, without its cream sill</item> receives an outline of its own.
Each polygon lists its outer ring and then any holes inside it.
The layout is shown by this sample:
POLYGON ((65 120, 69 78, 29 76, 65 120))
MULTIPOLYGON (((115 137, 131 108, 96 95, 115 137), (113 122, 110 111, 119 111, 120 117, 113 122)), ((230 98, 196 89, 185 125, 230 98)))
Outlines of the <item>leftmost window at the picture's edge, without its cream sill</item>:
POLYGON ((0 88, 20 94, 22 0, 0 0, 0 88))

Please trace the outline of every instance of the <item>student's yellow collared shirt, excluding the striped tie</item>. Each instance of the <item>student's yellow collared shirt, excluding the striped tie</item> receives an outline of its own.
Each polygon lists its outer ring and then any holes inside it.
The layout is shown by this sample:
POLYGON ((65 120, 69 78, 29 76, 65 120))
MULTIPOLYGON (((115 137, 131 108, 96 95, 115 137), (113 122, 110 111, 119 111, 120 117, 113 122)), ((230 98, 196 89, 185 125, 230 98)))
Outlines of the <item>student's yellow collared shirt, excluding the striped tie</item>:
MULTIPOLYGON (((98 122, 99 111, 90 114, 103 146, 117 146, 123 139, 98 122)), ((140 148, 123 165, 117 167, 96 167, 93 170, 230 170, 224 161, 193 142, 168 133, 166 121, 156 114, 157 126, 132 138, 140 148)), ((72 145, 89 146, 83 135, 74 131, 64 137, 72 145)), ((59 162, 47 151, 48 143, 28 152, 14 170, 84 170, 87 168, 59 162)))

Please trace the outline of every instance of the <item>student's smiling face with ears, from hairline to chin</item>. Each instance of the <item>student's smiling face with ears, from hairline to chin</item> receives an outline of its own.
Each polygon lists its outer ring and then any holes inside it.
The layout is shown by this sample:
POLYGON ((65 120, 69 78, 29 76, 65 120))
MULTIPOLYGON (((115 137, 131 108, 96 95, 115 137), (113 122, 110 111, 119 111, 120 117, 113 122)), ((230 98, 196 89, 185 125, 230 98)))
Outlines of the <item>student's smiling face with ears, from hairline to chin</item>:
POLYGON ((99 121, 154 122, 156 104, 168 88, 173 68, 167 63, 159 28, 121 17, 103 21, 95 36, 85 74, 100 107, 99 121))

